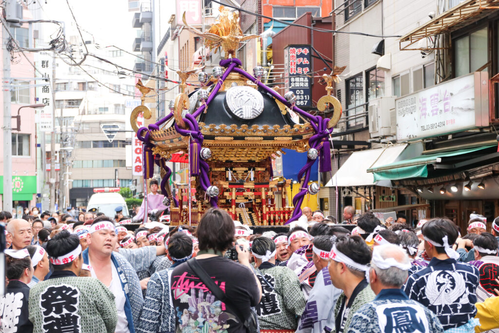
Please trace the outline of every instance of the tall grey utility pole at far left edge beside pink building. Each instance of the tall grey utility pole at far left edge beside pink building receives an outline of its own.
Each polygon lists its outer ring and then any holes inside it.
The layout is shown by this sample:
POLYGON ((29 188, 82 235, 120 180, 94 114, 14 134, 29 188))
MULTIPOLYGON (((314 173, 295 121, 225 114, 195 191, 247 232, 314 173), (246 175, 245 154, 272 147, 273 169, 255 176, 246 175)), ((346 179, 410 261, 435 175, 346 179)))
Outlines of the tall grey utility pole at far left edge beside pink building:
MULTIPOLYGON (((5 1, 6 10, 7 1, 5 1)), ((9 25, 6 22, 6 25, 9 25)), ((10 38, 8 27, 2 29, 2 54, 3 54, 3 84, 11 86, 10 82, 10 52, 7 51, 7 41, 10 38), (6 82, 8 81, 8 82, 6 82)), ((12 118, 10 111, 10 90, 3 88, 3 210, 12 212, 12 118)))

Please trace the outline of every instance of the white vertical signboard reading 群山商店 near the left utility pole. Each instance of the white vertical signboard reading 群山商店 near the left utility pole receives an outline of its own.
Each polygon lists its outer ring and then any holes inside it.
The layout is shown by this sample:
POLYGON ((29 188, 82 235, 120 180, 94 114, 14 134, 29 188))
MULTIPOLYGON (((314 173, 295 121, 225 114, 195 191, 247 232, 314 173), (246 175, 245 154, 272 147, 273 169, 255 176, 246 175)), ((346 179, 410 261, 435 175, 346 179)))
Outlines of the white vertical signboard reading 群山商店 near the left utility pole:
POLYGON ((51 132, 54 103, 52 101, 52 56, 44 52, 35 53, 36 77, 46 80, 36 80, 36 98, 38 103, 45 104, 40 109, 37 120, 41 132, 51 132))

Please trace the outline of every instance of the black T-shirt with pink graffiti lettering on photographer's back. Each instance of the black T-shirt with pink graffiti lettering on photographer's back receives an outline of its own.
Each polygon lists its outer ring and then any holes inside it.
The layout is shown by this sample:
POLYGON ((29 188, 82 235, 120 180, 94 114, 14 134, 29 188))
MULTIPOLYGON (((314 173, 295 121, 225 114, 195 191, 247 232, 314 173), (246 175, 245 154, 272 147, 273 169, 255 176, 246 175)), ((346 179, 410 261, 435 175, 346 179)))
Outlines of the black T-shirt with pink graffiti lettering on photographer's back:
MULTIPOLYGON (((250 307, 257 306, 259 301, 258 285, 250 269, 223 257, 198 262, 239 312, 248 318, 250 307)), ((217 300, 187 263, 173 270, 170 288, 176 332, 246 332, 234 309, 217 300)))

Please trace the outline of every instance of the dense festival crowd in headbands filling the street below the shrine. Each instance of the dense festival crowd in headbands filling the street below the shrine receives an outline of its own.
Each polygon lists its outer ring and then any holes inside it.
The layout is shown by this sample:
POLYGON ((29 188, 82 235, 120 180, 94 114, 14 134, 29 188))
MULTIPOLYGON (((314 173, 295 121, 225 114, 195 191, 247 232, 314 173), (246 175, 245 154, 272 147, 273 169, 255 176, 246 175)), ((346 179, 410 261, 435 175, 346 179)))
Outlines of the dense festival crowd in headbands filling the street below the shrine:
POLYGON ((133 231, 128 216, 1 212, 0 332, 499 332, 499 218, 488 232, 476 214, 463 231, 303 211, 262 234, 214 208, 133 231))

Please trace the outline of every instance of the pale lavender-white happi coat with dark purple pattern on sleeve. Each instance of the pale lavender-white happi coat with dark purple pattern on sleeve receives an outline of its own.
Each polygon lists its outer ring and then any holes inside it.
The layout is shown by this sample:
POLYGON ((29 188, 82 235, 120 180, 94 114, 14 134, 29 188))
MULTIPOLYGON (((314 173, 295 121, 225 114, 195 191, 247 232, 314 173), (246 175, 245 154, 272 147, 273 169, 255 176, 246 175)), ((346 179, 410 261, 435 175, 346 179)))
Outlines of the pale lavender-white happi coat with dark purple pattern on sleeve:
POLYGON ((334 315, 334 305, 341 290, 334 287, 327 266, 315 278, 315 284, 305 305, 305 311, 298 322, 296 333, 331 331, 328 320, 334 315))

